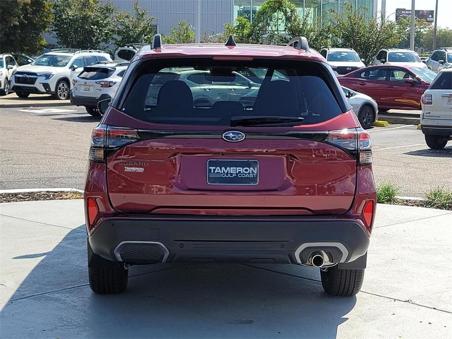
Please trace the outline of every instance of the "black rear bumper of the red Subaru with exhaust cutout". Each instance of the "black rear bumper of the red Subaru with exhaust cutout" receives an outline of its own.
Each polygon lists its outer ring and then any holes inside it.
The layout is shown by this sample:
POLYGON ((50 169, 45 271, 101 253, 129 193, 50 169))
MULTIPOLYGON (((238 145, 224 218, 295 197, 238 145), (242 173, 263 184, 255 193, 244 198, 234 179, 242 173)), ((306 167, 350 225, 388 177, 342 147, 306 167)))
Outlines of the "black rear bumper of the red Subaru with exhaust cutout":
POLYGON ((99 260, 308 264, 313 252, 324 251, 331 264, 365 268, 368 245, 361 221, 351 219, 110 218, 88 236, 88 253, 96 254, 88 265, 99 260))

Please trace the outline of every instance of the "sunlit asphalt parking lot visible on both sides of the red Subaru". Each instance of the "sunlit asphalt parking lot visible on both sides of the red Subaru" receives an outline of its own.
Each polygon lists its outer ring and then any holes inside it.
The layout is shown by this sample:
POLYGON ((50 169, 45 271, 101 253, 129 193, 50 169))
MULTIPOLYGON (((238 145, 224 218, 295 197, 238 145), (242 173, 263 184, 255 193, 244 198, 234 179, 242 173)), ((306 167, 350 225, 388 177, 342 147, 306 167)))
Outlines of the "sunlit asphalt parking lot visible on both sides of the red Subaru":
MULTIPOLYGON (((83 189, 89 137, 99 120, 76 106, 1 108, 0 189, 83 189)), ((431 150, 422 132, 408 125, 369 132, 377 183, 392 182, 409 196, 438 185, 452 189, 452 142, 431 150)))

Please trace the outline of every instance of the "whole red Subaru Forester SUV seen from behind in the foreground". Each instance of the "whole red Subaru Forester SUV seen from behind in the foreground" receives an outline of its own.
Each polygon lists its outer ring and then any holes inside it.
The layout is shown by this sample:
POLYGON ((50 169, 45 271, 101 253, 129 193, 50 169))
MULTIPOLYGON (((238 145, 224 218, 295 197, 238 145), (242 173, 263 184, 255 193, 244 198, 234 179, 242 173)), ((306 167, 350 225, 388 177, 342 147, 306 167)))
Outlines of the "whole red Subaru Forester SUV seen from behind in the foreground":
POLYGON ((85 187, 94 292, 120 293, 131 265, 162 262, 313 266, 326 293, 360 290, 376 206, 370 138, 305 38, 157 35, 99 108, 85 187))

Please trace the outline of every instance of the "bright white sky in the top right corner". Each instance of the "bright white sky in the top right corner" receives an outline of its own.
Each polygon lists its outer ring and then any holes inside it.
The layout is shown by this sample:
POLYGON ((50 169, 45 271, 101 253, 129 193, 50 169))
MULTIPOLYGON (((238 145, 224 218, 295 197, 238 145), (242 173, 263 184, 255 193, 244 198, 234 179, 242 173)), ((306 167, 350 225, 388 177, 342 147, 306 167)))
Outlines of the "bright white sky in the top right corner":
MULTIPOLYGON (((415 0, 415 9, 435 10, 436 0, 415 0)), ((381 11, 381 2, 378 0, 378 11, 381 11)), ((395 9, 411 9, 411 0, 386 0, 386 16, 395 20, 395 9)), ((452 29, 452 0, 438 0, 438 27, 452 29)))

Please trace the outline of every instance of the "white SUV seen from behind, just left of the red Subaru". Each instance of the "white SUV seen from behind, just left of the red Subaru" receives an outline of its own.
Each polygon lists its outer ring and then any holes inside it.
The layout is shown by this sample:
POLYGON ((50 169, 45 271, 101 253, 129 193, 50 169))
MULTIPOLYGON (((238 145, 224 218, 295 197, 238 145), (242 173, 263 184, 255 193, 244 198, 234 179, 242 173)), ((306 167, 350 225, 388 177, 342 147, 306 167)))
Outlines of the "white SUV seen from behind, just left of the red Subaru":
POLYGON ((71 103, 85 106, 88 114, 100 115, 97 104, 113 99, 129 62, 99 62, 85 66, 72 80, 71 103))

